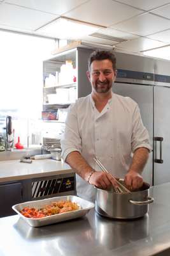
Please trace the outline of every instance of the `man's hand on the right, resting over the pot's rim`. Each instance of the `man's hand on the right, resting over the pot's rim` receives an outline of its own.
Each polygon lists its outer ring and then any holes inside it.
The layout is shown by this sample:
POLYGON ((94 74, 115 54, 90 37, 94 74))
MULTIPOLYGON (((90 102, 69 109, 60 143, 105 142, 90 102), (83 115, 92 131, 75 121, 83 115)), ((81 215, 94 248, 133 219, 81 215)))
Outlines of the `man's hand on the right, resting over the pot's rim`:
POLYGON ((124 181, 129 190, 135 190, 143 186, 143 177, 138 172, 129 171, 125 175, 124 181))

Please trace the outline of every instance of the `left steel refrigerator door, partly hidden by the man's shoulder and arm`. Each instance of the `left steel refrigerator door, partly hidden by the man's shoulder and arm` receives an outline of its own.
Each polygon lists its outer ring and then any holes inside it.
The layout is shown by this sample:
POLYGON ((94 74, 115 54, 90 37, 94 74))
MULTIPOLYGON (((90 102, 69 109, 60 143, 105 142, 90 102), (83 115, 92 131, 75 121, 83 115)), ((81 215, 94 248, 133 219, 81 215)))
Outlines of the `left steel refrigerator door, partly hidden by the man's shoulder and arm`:
MULTIPOLYGON (((150 136, 150 143, 153 145, 153 86, 146 86, 143 84, 124 84, 115 83, 113 85, 113 92, 122 96, 131 97, 138 103, 143 124, 148 130, 150 136)), ((148 162, 143 170, 143 179, 152 184, 153 183, 153 154, 150 153, 148 162)))

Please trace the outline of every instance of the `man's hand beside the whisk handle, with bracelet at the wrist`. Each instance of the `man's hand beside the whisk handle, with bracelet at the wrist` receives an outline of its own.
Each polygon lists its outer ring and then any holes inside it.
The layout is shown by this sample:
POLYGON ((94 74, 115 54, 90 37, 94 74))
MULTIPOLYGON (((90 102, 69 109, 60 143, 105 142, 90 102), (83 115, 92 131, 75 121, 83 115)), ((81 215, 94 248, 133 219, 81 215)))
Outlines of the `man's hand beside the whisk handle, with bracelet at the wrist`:
POLYGON ((110 173, 94 172, 90 177, 89 184, 101 189, 110 189, 111 186, 117 187, 117 182, 110 173))

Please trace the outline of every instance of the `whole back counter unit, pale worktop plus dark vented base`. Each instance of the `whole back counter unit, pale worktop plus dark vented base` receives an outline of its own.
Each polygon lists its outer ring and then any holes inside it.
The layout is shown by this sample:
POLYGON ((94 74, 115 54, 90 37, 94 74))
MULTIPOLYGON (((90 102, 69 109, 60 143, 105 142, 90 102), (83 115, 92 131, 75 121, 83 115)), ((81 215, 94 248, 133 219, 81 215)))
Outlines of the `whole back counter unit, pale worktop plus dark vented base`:
POLYGON ((11 206, 21 202, 76 195, 75 173, 62 161, 41 159, 27 164, 17 158, 0 161, 0 170, 0 218, 15 214, 11 206))

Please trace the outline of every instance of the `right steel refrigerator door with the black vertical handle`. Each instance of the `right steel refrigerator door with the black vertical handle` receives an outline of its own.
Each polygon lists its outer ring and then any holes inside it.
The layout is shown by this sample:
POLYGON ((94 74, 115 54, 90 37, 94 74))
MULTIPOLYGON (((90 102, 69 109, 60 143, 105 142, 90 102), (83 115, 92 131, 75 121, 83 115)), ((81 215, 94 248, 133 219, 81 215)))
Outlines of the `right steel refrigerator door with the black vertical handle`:
POLYGON ((170 182, 170 88, 154 88, 154 185, 170 182))

